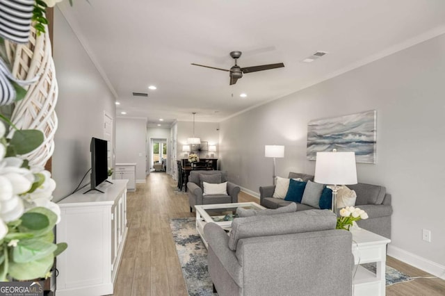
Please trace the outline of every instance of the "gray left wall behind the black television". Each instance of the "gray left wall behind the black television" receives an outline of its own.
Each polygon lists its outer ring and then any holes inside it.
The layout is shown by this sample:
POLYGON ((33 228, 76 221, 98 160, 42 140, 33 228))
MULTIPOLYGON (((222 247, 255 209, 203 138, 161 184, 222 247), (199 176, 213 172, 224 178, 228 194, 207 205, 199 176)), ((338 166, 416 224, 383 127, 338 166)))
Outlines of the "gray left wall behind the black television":
MULTIPOLYGON (((59 94, 52 174, 58 202, 91 167, 91 137, 104 138, 104 111, 115 115, 115 99, 58 8, 53 46, 59 94)), ((83 183, 89 181, 90 174, 83 183)))

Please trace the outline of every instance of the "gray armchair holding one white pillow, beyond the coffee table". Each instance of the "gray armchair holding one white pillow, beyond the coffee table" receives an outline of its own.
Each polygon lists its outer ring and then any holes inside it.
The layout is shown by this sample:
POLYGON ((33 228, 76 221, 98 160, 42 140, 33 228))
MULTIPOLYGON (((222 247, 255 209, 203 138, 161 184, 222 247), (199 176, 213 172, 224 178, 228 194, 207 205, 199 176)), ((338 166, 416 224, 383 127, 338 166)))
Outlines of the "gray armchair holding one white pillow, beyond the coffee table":
POLYGON ((202 182, 224 183, 226 181, 227 172, 219 170, 191 171, 187 183, 190 211, 192 212, 197 204, 230 204, 238 202, 240 188, 231 182, 227 182, 227 194, 225 195, 202 195, 202 182))

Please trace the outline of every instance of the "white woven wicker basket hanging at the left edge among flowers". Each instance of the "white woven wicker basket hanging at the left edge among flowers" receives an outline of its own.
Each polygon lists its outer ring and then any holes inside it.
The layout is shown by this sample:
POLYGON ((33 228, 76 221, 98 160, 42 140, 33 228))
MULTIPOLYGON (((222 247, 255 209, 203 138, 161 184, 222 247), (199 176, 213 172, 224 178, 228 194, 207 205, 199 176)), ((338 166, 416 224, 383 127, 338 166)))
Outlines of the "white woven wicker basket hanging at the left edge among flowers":
POLYGON ((31 27, 29 42, 17 44, 6 41, 6 52, 15 78, 29 80, 38 76, 36 83, 25 87, 26 97, 15 105, 11 121, 19 129, 38 129, 44 133, 42 145, 23 156, 30 165, 43 167, 54 152, 54 134, 58 124, 55 111, 58 86, 49 34, 37 35, 35 28, 31 27))

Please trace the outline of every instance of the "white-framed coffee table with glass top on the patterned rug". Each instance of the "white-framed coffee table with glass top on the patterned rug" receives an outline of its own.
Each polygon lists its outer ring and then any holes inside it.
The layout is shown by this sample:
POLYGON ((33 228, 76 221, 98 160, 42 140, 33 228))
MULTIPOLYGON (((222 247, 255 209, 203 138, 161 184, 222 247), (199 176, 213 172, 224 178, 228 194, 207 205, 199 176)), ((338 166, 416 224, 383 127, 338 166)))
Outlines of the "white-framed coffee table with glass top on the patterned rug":
POLYGON ((204 238, 204 226, 209 222, 218 224, 225 230, 230 230, 232 221, 225 221, 225 215, 234 215, 236 208, 252 208, 254 210, 264 210, 255 202, 238 202, 234 204, 202 204, 195 206, 196 209, 196 230, 200 233, 202 242, 207 247, 207 240, 204 238))

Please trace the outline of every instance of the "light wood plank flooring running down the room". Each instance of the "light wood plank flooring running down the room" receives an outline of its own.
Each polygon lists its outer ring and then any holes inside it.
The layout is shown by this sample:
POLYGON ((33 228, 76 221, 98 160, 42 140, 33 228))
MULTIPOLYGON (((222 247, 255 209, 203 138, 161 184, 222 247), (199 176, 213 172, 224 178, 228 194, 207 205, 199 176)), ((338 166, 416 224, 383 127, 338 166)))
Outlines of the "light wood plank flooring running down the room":
MULTIPOLYGON (((128 236, 115 285, 115 296, 188 295, 172 239, 169 220, 194 217, 188 197, 175 192, 176 181, 165 172, 152 172, 127 196, 128 236)), ((239 202, 259 202, 243 192, 239 202)), ((387 264, 411 277, 430 277, 410 265, 387 257, 387 264)), ((414 279, 387 287, 389 296, 445 295, 442 279, 414 279)), ((271 295, 272 296, 272 295, 271 295)))

